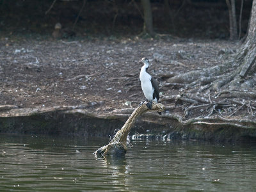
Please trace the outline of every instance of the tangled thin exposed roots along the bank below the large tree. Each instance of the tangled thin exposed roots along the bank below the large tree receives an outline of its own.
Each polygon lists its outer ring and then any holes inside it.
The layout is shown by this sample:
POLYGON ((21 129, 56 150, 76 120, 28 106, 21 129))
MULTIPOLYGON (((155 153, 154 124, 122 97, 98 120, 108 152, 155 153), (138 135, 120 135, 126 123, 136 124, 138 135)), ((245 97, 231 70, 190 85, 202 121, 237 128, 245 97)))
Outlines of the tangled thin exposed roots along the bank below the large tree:
POLYGON ((233 116, 240 111, 242 108, 245 109, 247 106, 248 115, 254 116, 256 111, 255 99, 256 93, 254 92, 239 92, 239 91, 222 91, 215 95, 211 94, 193 94, 186 93, 182 96, 172 95, 163 97, 163 101, 172 102, 172 108, 175 109, 181 107, 183 111, 184 119, 199 118, 205 116, 212 116, 218 114, 220 116, 233 116), (221 95, 225 95, 224 98, 221 95), (243 99, 246 98, 246 99, 243 99), (200 116, 196 116, 200 114, 200 116))

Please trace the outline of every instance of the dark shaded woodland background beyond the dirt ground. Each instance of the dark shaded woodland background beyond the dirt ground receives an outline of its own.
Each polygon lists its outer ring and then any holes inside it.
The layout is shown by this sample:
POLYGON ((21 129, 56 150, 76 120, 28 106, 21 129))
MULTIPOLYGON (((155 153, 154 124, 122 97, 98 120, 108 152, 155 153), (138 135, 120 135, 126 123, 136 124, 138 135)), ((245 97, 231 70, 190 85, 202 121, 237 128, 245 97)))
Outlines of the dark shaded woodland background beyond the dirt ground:
MULTIPOLYGON (((49 10, 53 2, 1 0, 0 35, 47 38, 57 22, 83 38, 129 37, 139 35, 143 30, 140 1, 87 0, 83 7, 83 0, 57 0, 49 10)), ((150 2, 154 30, 158 34, 181 38, 229 37, 228 8, 224 0, 170 0, 169 13, 164 1, 150 2)), ((237 19, 240 5, 241 1, 236 1, 237 19)), ((252 0, 244 0, 241 38, 246 33, 251 8, 252 0)))

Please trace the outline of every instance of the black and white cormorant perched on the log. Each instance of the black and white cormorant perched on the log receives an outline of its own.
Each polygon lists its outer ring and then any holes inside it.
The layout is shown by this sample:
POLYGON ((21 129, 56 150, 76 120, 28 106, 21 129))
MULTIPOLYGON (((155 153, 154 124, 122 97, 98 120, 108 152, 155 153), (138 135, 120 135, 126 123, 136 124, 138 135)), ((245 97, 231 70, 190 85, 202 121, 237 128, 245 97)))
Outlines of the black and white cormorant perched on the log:
MULTIPOLYGON (((148 59, 142 58, 140 63, 143 64, 140 70, 141 89, 148 100, 146 104, 148 109, 152 109, 152 102, 157 103, 159 100, 159 86, 156 79, 148 73, 148 59)), ((157 113, 161 115, 161 112, 157 111, 157 113)))

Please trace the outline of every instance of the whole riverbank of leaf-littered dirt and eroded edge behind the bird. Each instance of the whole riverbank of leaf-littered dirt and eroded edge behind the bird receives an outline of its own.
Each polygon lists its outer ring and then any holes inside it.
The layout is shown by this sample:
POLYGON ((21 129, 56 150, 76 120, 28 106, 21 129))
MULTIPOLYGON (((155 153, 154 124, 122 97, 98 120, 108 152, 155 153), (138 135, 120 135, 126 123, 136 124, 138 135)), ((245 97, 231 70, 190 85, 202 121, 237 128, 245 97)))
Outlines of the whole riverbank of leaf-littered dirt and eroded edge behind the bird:
MULTIPOLYGON (((167 111, 162 116, 157 113, 142 116, 132 129, 134 139, 256 137, 253 100, 250 103, 244 103, 243 98, 232 100, 227 110, 188 111, 189 98, 182 95, 186 95, 186 88, 179 83, 168 83, 168 78, 177 74, 224 63, 239 45, 225 40, 170 37, 1 38, 0 132, 113 135, 144 100, 138 60, 147 57, 152 63, 149 71, 160 83, 161 102, 167 111)), ((212 97, 210 101, 220 104, 223 100, 212 97)))

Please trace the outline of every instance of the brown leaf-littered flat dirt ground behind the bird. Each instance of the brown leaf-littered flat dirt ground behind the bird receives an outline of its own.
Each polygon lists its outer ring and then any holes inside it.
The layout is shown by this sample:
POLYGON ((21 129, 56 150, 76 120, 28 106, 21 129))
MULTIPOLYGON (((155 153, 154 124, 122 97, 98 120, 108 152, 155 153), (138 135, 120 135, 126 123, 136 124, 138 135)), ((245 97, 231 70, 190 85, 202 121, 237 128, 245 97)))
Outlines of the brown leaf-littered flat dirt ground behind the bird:
MULTIPOLYGON (((145 100, 139 60, 148 71, 181 74, 220 65, 239 43, 161 37, 118 40, 9 39, 0 41, 0 105, 20 108, 76 106, 92 111, 136 107, 145 100)), ((166 79, 157 78, 160 86, 166 79)), ((179 88, 161 87, 161 97, 179 88)), ((163 102, 169 105, 168 101, 163 102)))

